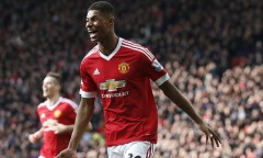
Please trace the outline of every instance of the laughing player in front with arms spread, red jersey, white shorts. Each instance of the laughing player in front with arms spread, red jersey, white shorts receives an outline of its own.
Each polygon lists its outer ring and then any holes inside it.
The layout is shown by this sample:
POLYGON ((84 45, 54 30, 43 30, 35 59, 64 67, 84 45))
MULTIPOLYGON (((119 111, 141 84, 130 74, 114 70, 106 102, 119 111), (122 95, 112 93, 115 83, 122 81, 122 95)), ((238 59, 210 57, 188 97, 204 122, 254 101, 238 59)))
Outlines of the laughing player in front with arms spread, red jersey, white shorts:
POLYGON ((219 136, 204 123, 191 102, 169 80, 167 70, 144 46, 122 38, 114 31, 114 8, 106 1, 90 5, 87 30, 98 45, 80 65, 81 101, 76 126, 67 149, 57 158, 73 158, 100 93, 108 158, 150 158, 157 144, 158 114, 150 80, 206 135, 219 146, 219 136))

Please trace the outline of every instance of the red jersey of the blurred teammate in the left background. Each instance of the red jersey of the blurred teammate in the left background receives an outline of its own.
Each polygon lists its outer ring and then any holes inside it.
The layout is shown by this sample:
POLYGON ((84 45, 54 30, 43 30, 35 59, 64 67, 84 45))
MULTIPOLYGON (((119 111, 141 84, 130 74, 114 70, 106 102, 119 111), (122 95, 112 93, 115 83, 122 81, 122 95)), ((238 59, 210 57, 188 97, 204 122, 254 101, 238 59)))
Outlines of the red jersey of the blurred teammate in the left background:
POLYGON ((48 106, 46 102, 37 106, 37 114, 42 123, 43 146, 41 156, 45 158, 54 158, 61 150, 68 147, 71 132, 55 134, 49 126, 56 122, 72 125, 75 124, 78 105, 69 99, 59 98, 55 105, 48 106))

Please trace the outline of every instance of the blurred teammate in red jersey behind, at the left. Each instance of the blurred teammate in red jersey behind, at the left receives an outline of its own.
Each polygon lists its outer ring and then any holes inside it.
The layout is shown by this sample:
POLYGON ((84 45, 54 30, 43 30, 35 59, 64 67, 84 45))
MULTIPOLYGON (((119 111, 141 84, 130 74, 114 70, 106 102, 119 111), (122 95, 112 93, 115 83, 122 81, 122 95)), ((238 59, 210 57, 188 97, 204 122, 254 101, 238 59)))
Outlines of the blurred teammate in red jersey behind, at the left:
POLYGON ((37 106, 42 128, 28 136, 31 143, 43 137, 39 158, 54 158, 67 148, 77 115, 78 105, 60 97, 60 76, 46 75, 43 81, 43 97, 46 101, 37 106))

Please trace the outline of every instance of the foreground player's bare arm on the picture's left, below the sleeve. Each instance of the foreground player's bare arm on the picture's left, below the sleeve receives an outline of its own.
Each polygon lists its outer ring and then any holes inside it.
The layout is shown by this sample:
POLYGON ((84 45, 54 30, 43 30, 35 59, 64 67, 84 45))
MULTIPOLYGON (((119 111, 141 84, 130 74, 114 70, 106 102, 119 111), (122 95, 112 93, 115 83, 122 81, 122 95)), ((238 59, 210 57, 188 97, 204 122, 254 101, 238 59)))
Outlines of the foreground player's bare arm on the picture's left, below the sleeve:
POLYGON ((94 100, 95 98, 81 98, 79 111, 75 122, 73 132, 71 139, 69 142, 68 148, 62 150, 57 158, 75 158, 79 142, 87 131, 87 126, 91 120, 94 111, 94 100))

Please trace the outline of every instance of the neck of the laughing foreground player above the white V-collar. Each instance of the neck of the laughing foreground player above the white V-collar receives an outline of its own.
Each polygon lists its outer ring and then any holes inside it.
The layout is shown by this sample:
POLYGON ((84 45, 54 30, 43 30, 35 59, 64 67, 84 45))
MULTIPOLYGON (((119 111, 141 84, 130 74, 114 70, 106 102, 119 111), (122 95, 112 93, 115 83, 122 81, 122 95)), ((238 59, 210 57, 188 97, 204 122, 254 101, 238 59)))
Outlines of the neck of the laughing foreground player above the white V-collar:
POLYGON ((107 40, 104 40, 103 42, 99 42, 99 49, 104 55, 108 56, 117 46, 118 37, 113 34, 113 36, 110 36, 107 40))

